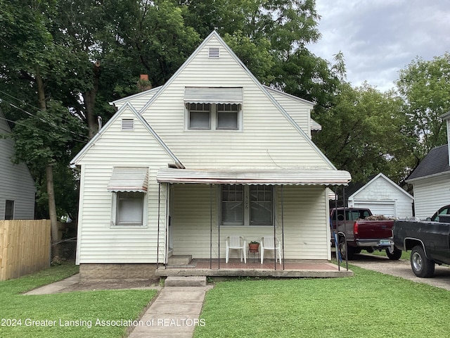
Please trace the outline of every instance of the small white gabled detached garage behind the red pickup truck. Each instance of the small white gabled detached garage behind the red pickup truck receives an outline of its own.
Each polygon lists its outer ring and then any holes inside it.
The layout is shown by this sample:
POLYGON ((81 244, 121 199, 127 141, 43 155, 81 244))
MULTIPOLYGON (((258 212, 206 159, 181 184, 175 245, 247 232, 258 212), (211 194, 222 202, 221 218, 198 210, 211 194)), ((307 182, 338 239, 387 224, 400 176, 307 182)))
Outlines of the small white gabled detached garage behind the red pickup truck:
POLYGON ((349 195, 348 206, 369 208, 373 215, 409 218, 413 215, 413 201, 413 196, 379 173, 349 195))

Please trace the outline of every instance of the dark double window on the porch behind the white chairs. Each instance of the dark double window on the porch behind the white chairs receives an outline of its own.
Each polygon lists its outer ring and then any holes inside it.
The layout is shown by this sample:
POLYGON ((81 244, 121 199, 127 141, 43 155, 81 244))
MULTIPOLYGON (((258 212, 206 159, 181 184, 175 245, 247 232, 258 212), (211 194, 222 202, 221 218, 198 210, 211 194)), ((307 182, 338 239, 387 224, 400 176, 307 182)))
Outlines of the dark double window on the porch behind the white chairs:
POLYGON ((273 225, 274 188, 271 185, 223 185, 222 225, 273 225))

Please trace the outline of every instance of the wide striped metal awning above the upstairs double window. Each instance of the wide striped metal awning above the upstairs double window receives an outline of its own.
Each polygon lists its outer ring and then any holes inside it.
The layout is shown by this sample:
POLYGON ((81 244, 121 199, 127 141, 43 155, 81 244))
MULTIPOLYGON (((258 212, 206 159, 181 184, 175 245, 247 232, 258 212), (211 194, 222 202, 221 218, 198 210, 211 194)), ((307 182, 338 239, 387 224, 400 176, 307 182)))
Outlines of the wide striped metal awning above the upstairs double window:
POLYGON ((242 88, 230 87, 186 87, 186 104, 242 104, 242 88))

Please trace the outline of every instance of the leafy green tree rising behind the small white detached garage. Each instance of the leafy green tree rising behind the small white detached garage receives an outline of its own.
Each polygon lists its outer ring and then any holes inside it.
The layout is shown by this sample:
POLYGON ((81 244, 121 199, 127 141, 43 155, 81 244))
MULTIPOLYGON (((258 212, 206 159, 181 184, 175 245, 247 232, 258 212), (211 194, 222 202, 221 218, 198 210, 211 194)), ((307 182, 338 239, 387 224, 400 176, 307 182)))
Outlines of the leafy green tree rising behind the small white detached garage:
POLYGON ((314 142, 356 182, 380 172, 400 182, 406 176, 403 158, 409 142, 399 133, 405 125, 400 108, 394 92, 342 83, 334 106, 317 117, 323 131, 314 135, 314 142))

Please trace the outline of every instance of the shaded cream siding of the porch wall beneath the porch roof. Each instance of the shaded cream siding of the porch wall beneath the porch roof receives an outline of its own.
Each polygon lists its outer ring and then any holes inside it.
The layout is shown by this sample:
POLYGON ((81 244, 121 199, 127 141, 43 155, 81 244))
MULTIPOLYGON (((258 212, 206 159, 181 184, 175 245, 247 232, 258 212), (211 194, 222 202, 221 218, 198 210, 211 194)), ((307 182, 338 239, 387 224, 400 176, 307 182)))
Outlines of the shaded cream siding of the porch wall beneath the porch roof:
MULTIPOLYGON (((229 226, 218 229, 219 186, 207 184, 177 184, 174 187, 176 209, 172 218, 174 254, 192 255, 193 258, 225 257, 226 236, 239 234, 247 240, 260 240, 264 235, 274 233, 273 226, 229 226), (211 190, 212 189, 212 190, 211 190), (212 203, 210 203, 212 201, 212 203), (212 219, 212 236, 211 222, 212 219), (220 235, 219 235, 220 231, 220 235), (211 242, 212 239, 212 242, 211 242)), ((283 200, 284 244, 286 259, 327 259, 330 246, 327 236, 325 212, 325 187, 281 186, 276 187, 276 236, 282 239, 281 210, 283 200), (283 196, 283 198, 282 198, 283 196), (315 212, 311 212, 314 210, 315 212)), ((231 256, 235 258, 234 256, 231 256)), ((237 257, 237 256, 236 256, 237 257)), ((268 252, 267 258, 273 258, 268 252)))

